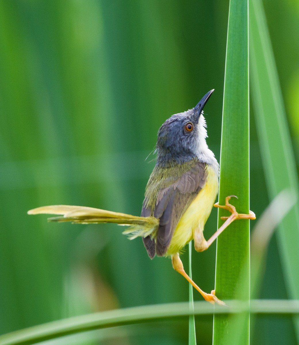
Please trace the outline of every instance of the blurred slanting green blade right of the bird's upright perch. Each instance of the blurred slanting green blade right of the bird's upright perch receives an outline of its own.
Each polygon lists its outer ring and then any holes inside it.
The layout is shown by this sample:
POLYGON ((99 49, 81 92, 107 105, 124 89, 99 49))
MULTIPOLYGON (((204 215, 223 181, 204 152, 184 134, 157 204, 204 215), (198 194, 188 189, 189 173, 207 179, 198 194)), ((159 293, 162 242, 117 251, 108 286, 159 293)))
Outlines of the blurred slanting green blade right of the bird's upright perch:
MULTIPOLYGON (((265 13, 259 0, 250 1, 250 64, 263 167, 270 199, 289 188, 298 199, 298 175, 265 13)), ((279 252, 290 298, 299 297, 299 203, 278 227, 279 252)), ((295 331, 299 341, 299 319, 295 331)))

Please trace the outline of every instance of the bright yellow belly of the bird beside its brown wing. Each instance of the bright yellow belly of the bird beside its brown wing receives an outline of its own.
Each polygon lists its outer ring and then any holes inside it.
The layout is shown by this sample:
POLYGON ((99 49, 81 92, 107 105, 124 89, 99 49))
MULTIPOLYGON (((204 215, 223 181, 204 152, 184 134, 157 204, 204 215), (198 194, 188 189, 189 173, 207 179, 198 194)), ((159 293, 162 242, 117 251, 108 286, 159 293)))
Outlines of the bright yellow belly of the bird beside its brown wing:
POLYGON ((218 194, 219 182, 215 170, 207 166, 207 182, 182 215, 172 236, 166 256, 179 253, 193 239, 196 230, 203 231, 218 194))

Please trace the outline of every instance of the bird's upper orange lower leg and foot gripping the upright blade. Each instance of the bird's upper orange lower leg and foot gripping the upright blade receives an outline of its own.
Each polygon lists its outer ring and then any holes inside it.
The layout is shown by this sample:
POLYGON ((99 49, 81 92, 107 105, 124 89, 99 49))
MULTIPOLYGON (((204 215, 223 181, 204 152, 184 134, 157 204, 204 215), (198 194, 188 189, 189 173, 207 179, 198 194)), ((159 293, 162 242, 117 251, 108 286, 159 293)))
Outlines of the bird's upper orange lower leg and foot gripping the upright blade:
POLYGON ((225 223, 223 223, 220 228, 216 231, 215 234, 213 234, 208 240, 207 240, 207 246, 205 249, 209 248, 209 246, 215 241, 215 239, 222 233, 224 229, 226 229, 234 220, 236 219, 256 219, 256 215, 252 212, 249 211, 249 214, 244 214, 244 213, 238 213, 236 211, 236 207, 229 204, 229 200, 231 197, 237 198, 235 195, 230 195, 225 198, 225 205, 219 205, 219 203, 216 203, 214 206, 223 208, 225 210, 230 211, 231 215, 229 217, 221 217, 221 219, 225 220, 225 223))

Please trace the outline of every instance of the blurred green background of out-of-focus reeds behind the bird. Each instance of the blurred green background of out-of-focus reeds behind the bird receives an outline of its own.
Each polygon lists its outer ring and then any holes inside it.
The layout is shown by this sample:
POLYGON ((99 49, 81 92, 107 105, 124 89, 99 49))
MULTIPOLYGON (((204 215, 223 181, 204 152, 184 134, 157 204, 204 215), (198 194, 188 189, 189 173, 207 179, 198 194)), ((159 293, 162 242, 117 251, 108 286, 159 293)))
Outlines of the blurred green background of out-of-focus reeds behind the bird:
MULTIPOLYGON (((299 4, 263 3, 298 159, 299 4)), ((219 159, 228 6, 228 0, 1 1, 1 334, 73 315, 188 300, 188 283, 171 261, 151 261, 142 240, 129 241, 122 228, 49 224, 27 210, 70 204, 139 215, 159 127, 212 88, 207 141, 219 159)), ((250 208, 259 216, 269 199, 253 110, 250 116, 250 208)), ((215 209, 206 238, 216 226, 215 209)), ((205 291, 214 286, 215 252, 213 245, 193 253, 193 279, 205 291)), ((187 255, 182 260, 187 268, 187 255)), ((260 297, 287 297, 275 237, 260 297)), ((210 344, 212 317, 197 317, 196 331, 198 344, 210 344)), ((187 339, 183 318, 67 343, 187 339)), ((290 318, 258 317, 253 344, 294 342, 290 318)))

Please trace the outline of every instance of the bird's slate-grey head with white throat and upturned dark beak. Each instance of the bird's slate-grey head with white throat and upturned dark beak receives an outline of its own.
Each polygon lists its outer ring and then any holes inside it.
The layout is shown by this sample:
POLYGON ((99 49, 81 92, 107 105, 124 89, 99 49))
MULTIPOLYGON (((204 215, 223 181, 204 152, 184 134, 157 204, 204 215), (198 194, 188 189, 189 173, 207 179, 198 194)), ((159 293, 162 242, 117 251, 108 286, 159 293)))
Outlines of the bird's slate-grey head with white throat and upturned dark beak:
POLYGON ((157 164, 169 166, 214 156, 206 144, 207 130, 203 117, 203 107, 213 91, 203 96, 193 109, 172 115, 163 123, 158 131, 157 164))

